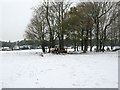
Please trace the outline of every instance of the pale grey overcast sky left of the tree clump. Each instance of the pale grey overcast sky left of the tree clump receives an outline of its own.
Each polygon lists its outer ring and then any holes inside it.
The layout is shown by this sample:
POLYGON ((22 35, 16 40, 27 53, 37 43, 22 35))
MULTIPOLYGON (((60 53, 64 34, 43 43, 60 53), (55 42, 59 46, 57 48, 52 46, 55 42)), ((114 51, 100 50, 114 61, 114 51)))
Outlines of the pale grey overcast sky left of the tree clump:
POLYGON ((32 7, 40 0, 1 0, 0 1, 0 40, 17 41, 23 39, 30 22, 32 7))

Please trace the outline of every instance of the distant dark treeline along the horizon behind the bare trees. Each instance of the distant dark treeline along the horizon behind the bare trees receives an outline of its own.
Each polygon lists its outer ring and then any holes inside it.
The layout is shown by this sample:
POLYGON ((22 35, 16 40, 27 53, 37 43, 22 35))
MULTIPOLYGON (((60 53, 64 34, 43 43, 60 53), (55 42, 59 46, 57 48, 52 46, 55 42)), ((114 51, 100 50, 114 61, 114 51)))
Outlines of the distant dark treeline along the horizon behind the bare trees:
MULTIPOLYGON (((93 46, 95 46, 96 45, 96 39, 93 39, 92 40, 93 42, 92 42, 92 45, 93 46)), ((23 45, 31 45, 32 46, 32 48, 37 48, 37 47, 39 47, 39 46, 41 46, 41 43, 42 42, 39 42, 39 41, 35 41, 35 40, 26 40, 26 39, 24 39, 24 40, 21 40, 21 41, 16 41, 16 42, 11 42, 11 41, 0 41, 0 46, 1 47, 9 47, 9 48, 13 48, 13 47, 15 47, 15 46, 23 46, 23 45)), ((49 41, 44 41, 44 45, 45 45, 45 47, 49 47, 49 41)), ((65 44, 65 46, 67 46, 67 47, 70 47, 70 46, 72 46, 72 47, 74 47, 75 45, 74 45, 74 41, 73 40, 70 40, 70 39, 65 39, 65 42, 64 42, 64 44, 65 44)), ((78 44, 77 44, 77 46, 81 46, 81 42, 79 42, 78 44)), ((58 40, 56 40, 55 41, 55 46, 59 46, 59 41, 58 40)), ((90 46, 90 45, 88 45, 88 46, 90 46)), ((119 46, 119 42, 118 42, 118 40, 115 40, 115 41, 113 41, 113 42, 111 42, 111 40, 107 40, 107 43, 106 43, 106 46, 111 46, 111 47, 114 47, 114 46, 119 46)))

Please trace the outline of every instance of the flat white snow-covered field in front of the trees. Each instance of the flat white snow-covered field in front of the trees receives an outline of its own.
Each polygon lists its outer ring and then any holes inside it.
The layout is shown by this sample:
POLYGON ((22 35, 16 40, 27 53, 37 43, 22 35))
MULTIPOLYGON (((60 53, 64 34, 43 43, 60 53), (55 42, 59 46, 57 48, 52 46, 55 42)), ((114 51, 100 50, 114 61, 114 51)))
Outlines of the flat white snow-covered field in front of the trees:
POLYGON ((3 88, 117 88, 118 53, 44 54, 1 51, 3 88))

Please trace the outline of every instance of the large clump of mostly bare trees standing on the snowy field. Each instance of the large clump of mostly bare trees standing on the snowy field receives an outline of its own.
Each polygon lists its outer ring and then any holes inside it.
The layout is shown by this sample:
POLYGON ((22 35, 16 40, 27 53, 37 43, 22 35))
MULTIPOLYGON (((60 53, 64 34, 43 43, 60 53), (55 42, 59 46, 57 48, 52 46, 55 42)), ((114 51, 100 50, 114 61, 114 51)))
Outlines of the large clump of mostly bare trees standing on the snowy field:
POLYGON ((86 52, 96 46, 96 52, 104 51, 106 45, 119 44, 118 2, 82 2, 72 6, 71 2, 43 2, 34 8, 33 17, 25 36, 35 40, 45 52, 48 47, 59 45, 62 50, 67 44, 86 52))

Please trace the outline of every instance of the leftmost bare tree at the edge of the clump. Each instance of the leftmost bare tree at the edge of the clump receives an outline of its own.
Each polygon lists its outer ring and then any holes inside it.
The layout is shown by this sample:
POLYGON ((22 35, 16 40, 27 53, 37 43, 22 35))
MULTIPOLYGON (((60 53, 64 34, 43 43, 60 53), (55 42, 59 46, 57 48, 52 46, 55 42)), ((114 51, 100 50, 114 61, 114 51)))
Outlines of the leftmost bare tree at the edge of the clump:
MULTIPOLYGON (((43 7, 39 9, 43 9, 43 7)), ((43 11, 41 10, 41 12, 38 12, 38 10, 35 9, 33 18, 25 31, 25 36, 27 39, 38 41, 42 46, 43 52, 45 52, 44 41, 47 33, 46 23, 43 11)))

